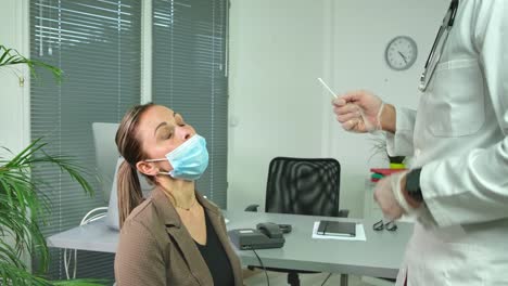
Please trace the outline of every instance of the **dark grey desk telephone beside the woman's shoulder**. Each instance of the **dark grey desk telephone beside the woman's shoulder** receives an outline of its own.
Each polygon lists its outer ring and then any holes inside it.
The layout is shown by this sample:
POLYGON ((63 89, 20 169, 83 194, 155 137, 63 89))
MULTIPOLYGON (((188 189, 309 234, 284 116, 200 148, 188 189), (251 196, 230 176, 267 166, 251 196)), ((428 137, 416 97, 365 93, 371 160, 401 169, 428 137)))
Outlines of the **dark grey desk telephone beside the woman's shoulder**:
POLYGON ((291 225, 272 222, 258 223, 256 230, 238 229, 229 231, 231 242, 238 249, 280 248, 284 245, 283 233, 291 232, 291 225))

